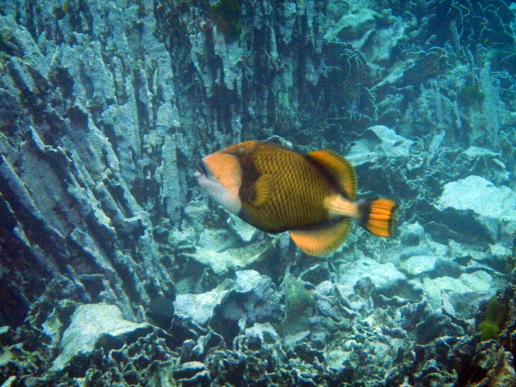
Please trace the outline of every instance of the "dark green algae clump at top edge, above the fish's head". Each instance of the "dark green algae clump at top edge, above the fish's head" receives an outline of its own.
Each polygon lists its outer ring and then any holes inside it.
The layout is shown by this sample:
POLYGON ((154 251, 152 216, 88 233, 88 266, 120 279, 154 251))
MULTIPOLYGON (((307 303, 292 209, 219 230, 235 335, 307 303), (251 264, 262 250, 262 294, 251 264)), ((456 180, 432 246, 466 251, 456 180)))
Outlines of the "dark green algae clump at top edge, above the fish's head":
POLYGON ((239 0, 220 0, 209 7, 209 17, 228 42, 234 42, 242 31, 239 0))

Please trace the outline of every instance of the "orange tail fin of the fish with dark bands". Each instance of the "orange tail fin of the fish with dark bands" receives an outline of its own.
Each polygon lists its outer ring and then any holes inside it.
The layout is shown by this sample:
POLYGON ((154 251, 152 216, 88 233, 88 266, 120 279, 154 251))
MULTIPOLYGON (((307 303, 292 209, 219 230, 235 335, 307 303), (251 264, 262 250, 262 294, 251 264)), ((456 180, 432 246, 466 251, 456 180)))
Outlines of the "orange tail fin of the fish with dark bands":
POLYGON ((390 237, 399 205, 389 199, 364 200, 358 203, 359 224, 376 236, 390 237))

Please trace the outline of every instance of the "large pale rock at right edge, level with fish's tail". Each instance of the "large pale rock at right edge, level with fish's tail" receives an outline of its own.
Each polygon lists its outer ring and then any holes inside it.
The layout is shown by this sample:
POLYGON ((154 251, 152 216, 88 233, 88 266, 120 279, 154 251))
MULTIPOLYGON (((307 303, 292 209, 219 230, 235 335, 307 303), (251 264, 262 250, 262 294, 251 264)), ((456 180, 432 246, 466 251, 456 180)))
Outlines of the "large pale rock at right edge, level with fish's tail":
POLYGON ((480 176, 467 176, 447 183, 436 207, 446 212, 443 222, 454 231, 483 230, 483 238, 489 241, 512 243, 516 231, 516 192, 509 187, 496 187, 480 176), (464 213, 472 218, 464 217, 464 213))

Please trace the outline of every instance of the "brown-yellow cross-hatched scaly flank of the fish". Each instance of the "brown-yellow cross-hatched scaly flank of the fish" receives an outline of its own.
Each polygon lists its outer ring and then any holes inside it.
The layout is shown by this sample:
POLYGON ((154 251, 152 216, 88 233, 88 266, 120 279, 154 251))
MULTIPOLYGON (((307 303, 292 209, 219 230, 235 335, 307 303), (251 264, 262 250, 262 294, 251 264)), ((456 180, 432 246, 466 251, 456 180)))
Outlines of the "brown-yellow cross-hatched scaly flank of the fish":
POLYGON ((305 156, 273 144, 245 144, 259 174, 273 180, 269 200, 255 208, 245 204, 251 223, 281 232, 328 221, 324 198, 335 192, 305 156))

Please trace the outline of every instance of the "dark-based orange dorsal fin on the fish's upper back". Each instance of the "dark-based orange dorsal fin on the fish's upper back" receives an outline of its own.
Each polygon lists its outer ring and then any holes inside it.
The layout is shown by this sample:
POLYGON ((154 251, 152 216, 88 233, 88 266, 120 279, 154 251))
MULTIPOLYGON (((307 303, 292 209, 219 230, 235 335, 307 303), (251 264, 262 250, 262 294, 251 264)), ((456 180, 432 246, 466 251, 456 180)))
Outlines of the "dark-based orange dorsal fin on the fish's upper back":
POLYGON ((332 150, 313 151, 307 154, 324 168, 343 190, 346 199, 354 201, 357 196, 357 173, 348 160, 332 150))

